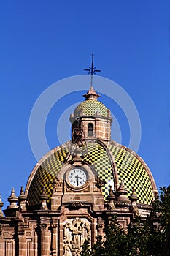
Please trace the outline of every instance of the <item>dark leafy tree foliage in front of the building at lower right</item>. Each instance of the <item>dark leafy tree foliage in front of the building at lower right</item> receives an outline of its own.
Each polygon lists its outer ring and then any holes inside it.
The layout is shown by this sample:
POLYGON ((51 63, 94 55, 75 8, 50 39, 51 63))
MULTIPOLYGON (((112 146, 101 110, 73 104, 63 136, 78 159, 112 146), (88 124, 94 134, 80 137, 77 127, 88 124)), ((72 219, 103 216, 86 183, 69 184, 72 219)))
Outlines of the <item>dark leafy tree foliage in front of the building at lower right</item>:
POLYGON ((128 226, 128 233, 116 217, 105 224, 104 239, 96 238, 92 248, 85 241, 82 256, 168 256, 170 255, 170 186, 162 187, 160 198, 153 203, 147 219, 137 216, 128 226))

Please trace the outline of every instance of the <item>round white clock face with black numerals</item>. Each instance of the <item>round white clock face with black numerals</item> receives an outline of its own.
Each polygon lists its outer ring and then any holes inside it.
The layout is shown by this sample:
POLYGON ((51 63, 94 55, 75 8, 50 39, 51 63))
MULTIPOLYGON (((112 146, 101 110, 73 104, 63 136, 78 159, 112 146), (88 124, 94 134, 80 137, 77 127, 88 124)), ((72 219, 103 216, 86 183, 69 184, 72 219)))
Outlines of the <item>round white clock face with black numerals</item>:
POLYGON ((87 181, 88 177, 85 173, 85 170, 82 170, 78 167, 69 171, 68 181, 74 187, 82 187, 87 181))

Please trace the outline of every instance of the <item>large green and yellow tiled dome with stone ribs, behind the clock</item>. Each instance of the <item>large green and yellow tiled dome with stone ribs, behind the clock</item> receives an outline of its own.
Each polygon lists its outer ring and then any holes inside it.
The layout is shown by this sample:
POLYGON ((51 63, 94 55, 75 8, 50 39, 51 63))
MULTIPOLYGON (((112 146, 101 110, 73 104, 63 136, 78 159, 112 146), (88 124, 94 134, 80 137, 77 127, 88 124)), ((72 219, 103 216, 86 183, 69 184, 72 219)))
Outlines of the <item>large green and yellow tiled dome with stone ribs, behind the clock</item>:
MULTIPOLYGON (((72 142, 54 148, 47 153, 34 167, 28 178, 26 195, 30 205, 40 203, 39 195, 45 187, 48 200, 52 195, 52 181, 61 169, 66 154, 69 152, 72 142)), ((103 195, 107 199, 109 184, 114 182, 115 187, 123 181, 128 196, 134 187, 138 196, 138 203, 150 205, 157 191, 155 181, 152 178, 147 165, 139 155, 125 146, 115 142, 87 143, 88 154, 85 161, 95 166, 98 176, 106 182, 103 187, 103 195)))

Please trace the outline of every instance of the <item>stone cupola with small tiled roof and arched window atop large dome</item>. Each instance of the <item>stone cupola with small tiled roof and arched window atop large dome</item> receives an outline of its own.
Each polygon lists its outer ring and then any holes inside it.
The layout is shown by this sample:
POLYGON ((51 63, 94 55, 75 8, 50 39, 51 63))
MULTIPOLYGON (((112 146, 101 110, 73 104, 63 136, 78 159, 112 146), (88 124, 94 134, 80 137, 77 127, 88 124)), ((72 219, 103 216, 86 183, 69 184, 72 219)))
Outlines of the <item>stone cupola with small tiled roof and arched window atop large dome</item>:
POLYGON ((81 102, 71 114, 72 140, 76 139, 76 130, 82 129, 82 140, 111 140, 112 117, 110 110, 98 101, 99 94, 90 86, 83 95, 85 101, 81 102))

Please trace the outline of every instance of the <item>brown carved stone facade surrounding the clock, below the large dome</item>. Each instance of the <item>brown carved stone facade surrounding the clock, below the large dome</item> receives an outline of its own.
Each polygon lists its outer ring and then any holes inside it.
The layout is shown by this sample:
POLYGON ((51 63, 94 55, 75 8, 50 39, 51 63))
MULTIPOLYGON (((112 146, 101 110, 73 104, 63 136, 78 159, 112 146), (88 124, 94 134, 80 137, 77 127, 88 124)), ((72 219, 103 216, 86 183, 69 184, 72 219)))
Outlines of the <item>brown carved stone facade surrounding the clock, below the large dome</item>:
MULTIPOLYGON (((74 162, 74 165, 82 167, 81 162, 74 162)), ((96 236, 104 236, 104 222, 109 217, 117 214, 118 222, 126 230, 136 214, 146 217, 150 212, 151 206, 138 205, 133 193, 131 200, 125 197, 123 184, 117 197, 110 188, 106 203, 101 192, 102 181, 90 166, 83 165, 89 175, 86 187, 70 187, 62 178, 67 167, 69 164, 58 173, 50 204, 46 203, 47 197, 42 192, 42 203, 36 209, 26 206, 23 211, 15 204, 4 211, 6 217, 0 219, 1 255, 79 256, 85 239, 93 244, 96 236)))

